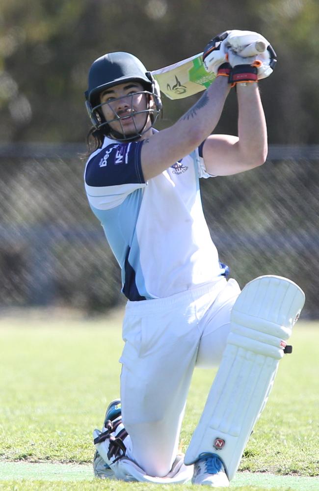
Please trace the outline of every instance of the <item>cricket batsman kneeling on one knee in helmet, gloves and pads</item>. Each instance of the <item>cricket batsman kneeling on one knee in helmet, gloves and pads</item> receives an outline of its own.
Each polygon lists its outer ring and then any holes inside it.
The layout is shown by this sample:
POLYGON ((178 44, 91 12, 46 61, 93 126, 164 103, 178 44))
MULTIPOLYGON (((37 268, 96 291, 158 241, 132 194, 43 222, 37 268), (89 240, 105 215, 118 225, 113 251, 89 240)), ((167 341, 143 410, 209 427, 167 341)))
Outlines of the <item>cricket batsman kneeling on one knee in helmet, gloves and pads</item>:
MULTIPOLYGON (((215 81, 160 132, 160 89, 138 58, 108 53, 89 70, 85 190, 127 297, 120 399, 93 434, 101 478, 229 486, 305 300, 283 277, 260 276, 242 291, 227 279, 199 191, 200 178, 264 164, 258 85, 273 71, 274 51, 259 33, 230 30, 210 41, 203 60, 215 81), (256 43, 266 51, 251 55, 256 43), (238 136, 212 134, 231 90, 238 136), (179 436, 194 367, 216 365, 184 456, 179 436)), ((99 363, 107 370, 107 347, 99 363)))

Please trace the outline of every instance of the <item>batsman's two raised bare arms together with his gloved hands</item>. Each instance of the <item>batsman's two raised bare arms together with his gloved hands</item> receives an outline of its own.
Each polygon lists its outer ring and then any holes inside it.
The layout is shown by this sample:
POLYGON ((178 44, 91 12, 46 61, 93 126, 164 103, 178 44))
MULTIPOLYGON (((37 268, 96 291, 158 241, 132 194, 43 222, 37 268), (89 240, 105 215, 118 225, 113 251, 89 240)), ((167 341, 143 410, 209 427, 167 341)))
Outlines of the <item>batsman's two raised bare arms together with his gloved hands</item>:
POLYGON ((141 151, 145 180, 160 174, 204 140, 203 157, 210 174, 237 174, 263 164, 267 156, 267 130, 258 80, 272 73, 275 57, 268 41, 256 32, 232 30, 213 38, 203 53, 205 67, 217 75, 229 75, 217 77, 177 123, 145 140, 141 151), (256 48, 259 40, 267 48, 252 56, 251 49, 256 48), (238 136, 212 136, 230 87, 235 84, 238 136))

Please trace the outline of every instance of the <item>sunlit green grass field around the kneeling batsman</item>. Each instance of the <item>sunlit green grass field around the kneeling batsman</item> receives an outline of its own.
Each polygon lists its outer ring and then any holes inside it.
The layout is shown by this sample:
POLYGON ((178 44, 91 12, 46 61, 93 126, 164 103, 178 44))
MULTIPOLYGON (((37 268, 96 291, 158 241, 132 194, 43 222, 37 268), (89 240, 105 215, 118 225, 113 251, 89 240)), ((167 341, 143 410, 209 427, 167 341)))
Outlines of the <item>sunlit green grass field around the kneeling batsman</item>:
MULTIPOLYGON (((300 479, 319 475, 319 323, 299 321, 291 342, 293 354, 286 355, 280 364, 275 386, 245 449, 240 471, 300 479)), ((101 427, 106 405, 119 395, 121 349, 121 313, 97 319, 56 316, 50 311, 42 315, 3 314, 0 463, 72 463, 88 469, 84 464, 92 460, 92 430, 101 427)), ((205 404, 213 375, 213 370, 195 370, 181 434, 184 450, 205 404)), ((319 489, 318 478, 313 477, 309 483, 312 484, 305 484, 305 490, 319 489)), ((88 480, 86 475, 81 482, 75 479, 64 483, 34 478, 21 481, 15 479, 14 470, 12 479, 6 476, 1 481, 0 475, 1 490, 129 488, 158 489, 139 483, 106 483, 92 477, 88 480)), ((160 489, 173 488, 181 489, 166 485, 160 489)), ((242 485, 232 488, 265 489, 242 485)))

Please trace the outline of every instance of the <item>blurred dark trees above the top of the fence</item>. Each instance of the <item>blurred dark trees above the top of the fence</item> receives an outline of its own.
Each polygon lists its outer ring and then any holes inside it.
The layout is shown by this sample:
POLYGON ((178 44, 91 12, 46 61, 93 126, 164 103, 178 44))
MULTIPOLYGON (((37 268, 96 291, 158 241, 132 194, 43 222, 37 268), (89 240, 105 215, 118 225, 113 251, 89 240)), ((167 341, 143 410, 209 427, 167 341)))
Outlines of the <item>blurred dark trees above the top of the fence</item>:
MULTIPOLYGON (((274 74, 260 84, 269 142, 317 143, 318 25, 318 0, 1 0, 0 140, 81 142, 94 59, 128 51, 155 70, 238 28, 261 32, 278 56, 274 74)), ((158 128, 192 99, 165 98, 158 128)), ((231 94, 217 131, 236 133, 236 126, 231 94)))

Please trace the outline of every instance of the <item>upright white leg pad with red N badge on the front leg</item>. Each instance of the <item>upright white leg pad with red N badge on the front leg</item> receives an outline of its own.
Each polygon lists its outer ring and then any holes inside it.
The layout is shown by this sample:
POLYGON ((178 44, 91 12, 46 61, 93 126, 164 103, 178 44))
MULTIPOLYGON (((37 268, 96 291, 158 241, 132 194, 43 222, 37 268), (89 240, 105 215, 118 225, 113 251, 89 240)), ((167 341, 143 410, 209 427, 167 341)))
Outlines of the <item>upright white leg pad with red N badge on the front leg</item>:
POLYGON ((203 452, 214 453, 229 480, 234 477, 304 302, 303 291, 280 276, 260 276, 244 287, 232 309, 227 345, 185 464, 193 464, 203 452))

